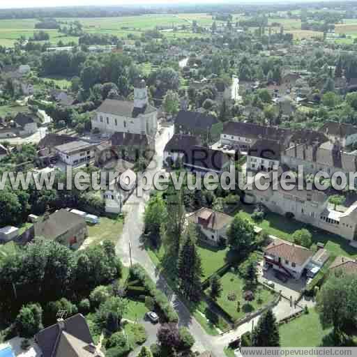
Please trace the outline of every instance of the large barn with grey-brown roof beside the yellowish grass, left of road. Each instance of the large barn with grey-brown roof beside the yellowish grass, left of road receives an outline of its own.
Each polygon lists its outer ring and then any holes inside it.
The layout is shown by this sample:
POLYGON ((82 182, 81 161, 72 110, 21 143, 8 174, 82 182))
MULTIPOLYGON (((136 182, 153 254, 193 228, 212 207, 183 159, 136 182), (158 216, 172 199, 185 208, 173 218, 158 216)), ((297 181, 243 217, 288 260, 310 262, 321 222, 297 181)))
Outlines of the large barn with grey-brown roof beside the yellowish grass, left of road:
POLYGON ((74 249, 79 248, 88 236, 86 220, 66 209, 45 215, 35 222, 33 230, 35 237, 50 239, 74 249))

